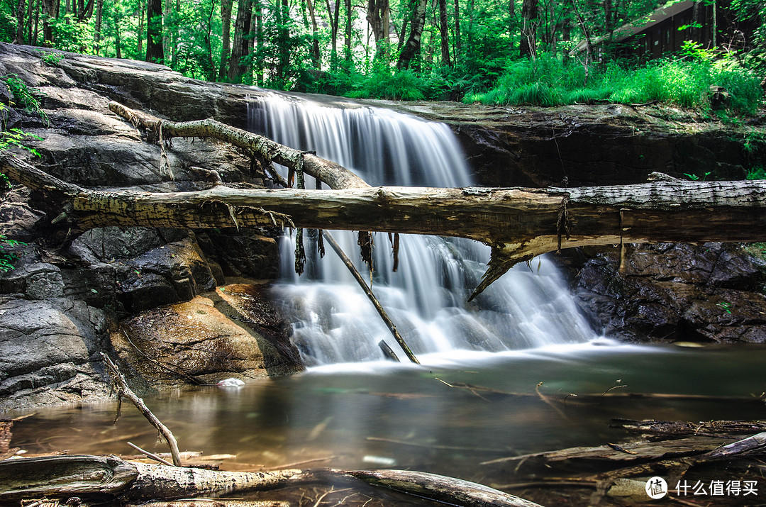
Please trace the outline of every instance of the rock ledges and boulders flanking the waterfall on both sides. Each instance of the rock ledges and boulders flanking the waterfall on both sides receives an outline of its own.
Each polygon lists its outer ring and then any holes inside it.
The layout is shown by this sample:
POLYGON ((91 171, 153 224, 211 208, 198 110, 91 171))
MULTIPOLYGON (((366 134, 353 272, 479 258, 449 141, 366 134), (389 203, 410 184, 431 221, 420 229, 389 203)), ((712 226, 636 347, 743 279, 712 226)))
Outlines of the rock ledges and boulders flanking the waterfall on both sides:
MULTIPOLYGON (((0 86, 6 128, 29 140, 35 165, 93 188, 186 191, 269 185, 260 162, 218 142, 174 139, 165 153, 110 112, 110 100, 173 120, 214 117, 247 126, 247 103, 264 93, 204 83, 155 64, 0 44, 0 74, 18 76, 39 112, 0 86), (56 53, 61 58, 47 58, 56 53)), ((386 103, 450 123, 485 185, 642 182, 653 171, 744 178, 764 149, 743 149, 760 118, 722 129, 660 106, 502 108, 386 103)), ((29 155, 27 154, 29 157, 29 155)), ((0 411, 88 401, 106 394, 100 352, 119 358, 144 391, 303 368, 290 327, 264 296, 278 275, 279 231, 93 229, 80 237, 27 189, 0 193, 0 234, 15 270, 0 276, 0 411)), ((630 341, 766 341, 764 260, 759 247, 659 245, 561 255, 594 326, 630 341)))

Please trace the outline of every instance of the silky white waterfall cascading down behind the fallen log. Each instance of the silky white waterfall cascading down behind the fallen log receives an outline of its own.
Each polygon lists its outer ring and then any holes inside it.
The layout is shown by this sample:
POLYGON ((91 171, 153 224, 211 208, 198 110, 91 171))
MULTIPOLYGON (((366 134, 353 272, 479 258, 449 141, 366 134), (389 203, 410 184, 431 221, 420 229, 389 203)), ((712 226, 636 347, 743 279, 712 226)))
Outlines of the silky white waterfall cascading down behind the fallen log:
MULTIPOLYGON (((457 139, 443 123, 391 110, 328 106, 282 93, 250 104, 250 129, 295 149, 314 150, 370 185, 472 185, 457 139)), ((313 180, 306 177, 306 188, 313 180)), ((332 231, 349 257, 356 236, 332 231)), ((293 342, 308 365, 383 358, 378 342, 399 351, 352 276, 333 252, 319 260, 316 233, 307 235, 306 273, 293 271, 294 238, 280 240, 283 280, 273 296, 293 322, 293 342), (313 252, 315 252, 313 254, 313 252)), ((466 303, 489 260, 489 247, 471 240, 403 235, 399 266, 376 234, 372 277, 357 267, 416 355, 479 350, 499 352, 595 337, 555 266, 545 257, 521 266, 466 303)), ((463 353, 463 352, 461 352, 463 353)))

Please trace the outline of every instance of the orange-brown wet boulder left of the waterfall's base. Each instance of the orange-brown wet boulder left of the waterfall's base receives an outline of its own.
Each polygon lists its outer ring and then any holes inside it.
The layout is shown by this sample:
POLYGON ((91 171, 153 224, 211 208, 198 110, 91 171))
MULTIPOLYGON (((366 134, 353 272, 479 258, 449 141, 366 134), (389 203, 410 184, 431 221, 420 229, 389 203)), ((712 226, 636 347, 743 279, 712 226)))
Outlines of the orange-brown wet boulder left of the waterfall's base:
POLYGON ((285 345, 288 329, 260 289, 239 284, 141 312, 121 323, 112 342, 134 383, 162 388, 190 377, 216 384, 300 371, 297 352, 285 345))

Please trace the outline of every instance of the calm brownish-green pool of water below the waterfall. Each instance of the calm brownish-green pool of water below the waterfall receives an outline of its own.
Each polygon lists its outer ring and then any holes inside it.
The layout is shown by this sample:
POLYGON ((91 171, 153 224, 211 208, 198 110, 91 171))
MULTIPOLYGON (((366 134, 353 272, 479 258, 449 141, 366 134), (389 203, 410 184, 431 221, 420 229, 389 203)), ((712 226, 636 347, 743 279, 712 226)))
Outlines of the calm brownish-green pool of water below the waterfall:
MULTIPOLYGON (((512 478, 486 461, 629 439, 609 427, 614 417, 766 417, 756 401, 766 391, 763 347, 598 340, 420 359, 424 365, 333 365, 144 399, 182 450, 235 454, 223 469, 316 460, 303 467, 417 469, 487 484, 512 478)), ((114 414, 114 403, 44 409, 15 424, 11 446, 132 454, 129 440, 165 452, 132 406, 116 424, 114 414)))

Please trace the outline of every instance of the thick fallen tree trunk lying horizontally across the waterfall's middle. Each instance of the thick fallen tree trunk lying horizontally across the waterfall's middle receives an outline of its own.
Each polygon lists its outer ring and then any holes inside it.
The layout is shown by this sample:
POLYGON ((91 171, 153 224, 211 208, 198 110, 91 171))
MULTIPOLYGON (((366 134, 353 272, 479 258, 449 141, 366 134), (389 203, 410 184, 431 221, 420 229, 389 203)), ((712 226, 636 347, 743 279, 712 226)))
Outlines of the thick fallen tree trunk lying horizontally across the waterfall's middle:
POLYGON ((766 182, 663 180, 583 188, 94 191, 0 155, 0 172, 49 196, 71 232, 93 227, 288 226, 466 237, 492 247, 476 293, 559 248, 766 237, 766 182))

